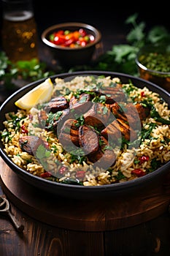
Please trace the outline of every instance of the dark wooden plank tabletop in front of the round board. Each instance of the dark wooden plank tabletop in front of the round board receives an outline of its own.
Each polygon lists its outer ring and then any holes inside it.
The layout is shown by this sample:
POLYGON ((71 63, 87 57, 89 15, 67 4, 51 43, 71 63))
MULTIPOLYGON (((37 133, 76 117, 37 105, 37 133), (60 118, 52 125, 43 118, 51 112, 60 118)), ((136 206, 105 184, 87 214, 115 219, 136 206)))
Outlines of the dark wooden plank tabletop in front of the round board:
MULTIPOLYGON (((0 192, 3 191, 0 188, 0 192)), ((149 222, 106 232, 85 232, 46 225, 11 203, 12 213, 23 223, 23 234, 9 219, 0 218, 1 256, 166 256, 170 255, 169 212, 149 222), (114 254, 113 254, 114 253, 114 254)))

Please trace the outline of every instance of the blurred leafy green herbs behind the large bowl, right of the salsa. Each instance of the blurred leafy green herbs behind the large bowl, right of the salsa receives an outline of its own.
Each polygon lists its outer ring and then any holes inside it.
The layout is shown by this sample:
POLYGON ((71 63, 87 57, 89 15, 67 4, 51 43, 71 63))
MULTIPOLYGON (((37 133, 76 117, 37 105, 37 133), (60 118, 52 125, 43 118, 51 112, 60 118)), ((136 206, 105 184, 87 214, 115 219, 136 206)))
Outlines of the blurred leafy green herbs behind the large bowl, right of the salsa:
POLYGON ((136 53, 144 45, 153 43, 170 42, 169 31, 164 26, 154 26, 147 31, 146 24, 142 21, 137 23, 138 13, 129 16, 125 24, 132 26, 125 37, 125 44, 113 45, 112 50, 99 56, 97 61, 89 66, 73 67, 70 71, 82 70, 101 70, 112 72, 123 72, 129 75, 138 75, 136 67, 136 53))

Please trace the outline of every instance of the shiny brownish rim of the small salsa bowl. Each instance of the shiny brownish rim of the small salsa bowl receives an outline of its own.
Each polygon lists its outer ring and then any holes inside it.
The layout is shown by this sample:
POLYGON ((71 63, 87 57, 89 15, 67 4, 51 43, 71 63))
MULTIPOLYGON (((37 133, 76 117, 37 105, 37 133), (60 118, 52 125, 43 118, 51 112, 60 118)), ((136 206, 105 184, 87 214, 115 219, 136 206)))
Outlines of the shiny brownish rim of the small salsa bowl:
POLYGON ((88 24, 88 23, 80 23, 80 22, 66 22, 66 23, 58 23, 58 24, 55 24, 55 25, 52 25, 52 26, 49 26, 47 29, 45 29, 43 32, 42 32, 42 35, 41 35, 41 38, 42 38, 42 42, 45 43, 45 45, 47 46, 50 46, 54 49, 58 49, 58 50, 71 50, 71 51, 75 51, 75 50, 82 50, 82 49, 87 49, 87 48, 91 48, 93 45, 96 45, 98 44, 98 42, 101 41, 101 31, 99 31, 98 29, 96 29, 94 26, 88 24), (60 29, 61 27, 68 27, 68 26, 75 26, 76 27, 82 27, 82 28, 85 28, 85 29, 90 29, 91 31, 94 31, 94 33, 96 34, 95 36, 95 40, 93 42, 90 42, 89 44, 83 46, 83 47, 80 47, 80 48, 69 48, 69 47, 66 47, 66 48, 63 48, 62 46, 60 45, 55 45, 53 44, 53 42, 50 42, 47 38, 46 38, 46 35, 54 30, 54 29, 60 29))

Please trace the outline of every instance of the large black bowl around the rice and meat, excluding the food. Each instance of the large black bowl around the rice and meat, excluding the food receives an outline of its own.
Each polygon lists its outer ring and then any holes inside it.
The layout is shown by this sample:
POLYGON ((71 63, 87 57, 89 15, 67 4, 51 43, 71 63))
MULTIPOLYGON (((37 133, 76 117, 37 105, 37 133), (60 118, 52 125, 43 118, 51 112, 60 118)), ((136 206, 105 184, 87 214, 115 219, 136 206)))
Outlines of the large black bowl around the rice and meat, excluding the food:
MULTIPOLYGON (((147 80, 144 80, 142 78, 136 78, 131 75, 125 75, 122 73, 98 72, 98 71, 72 72, 72 73, 63 73, 60 75, 54 75, 51 77, 51 79, 54 82, 55 78, 57 77, 69 79, 76 75, 107 75, 107 76, 111 76, 112 78, 114 77, 120 78, 120 80, 123 83, 129 83, 129 81, 131 81, 139 88, 143 88, 144 86, 147 86, 148 89, 160 94, 161 97, 166 102, 169 103, 170 94, 167 91, 161 89, 159 86, 147 80)), ((8 113, 11 110, 14 110, 14 111, 17 110, 17 107, 15 106, 14 102, 18 98, 26 94, 28 91, 33 89, 35 86, 39 85, 39 83, 42 83, 43 80, 44 79, 37 80, 36 82, 30 83, 27 86, 23 87, 22 89, 19 89, 1 105, 1 108, 0 108, 0 115, 1 115, 0 129, 1 130, 4 129, 3 121, 5 120, 5 113, 8 113)), ((92 199, 96 197, 98 198, 110 197, 110 196, 113 197, 117 195, 123 195, 124 193, 127 194, 128 192, 136 193, 137 191, 141 191, 141 189, 144 189, 144 187, 158 186, 158 184, 161 184, 161 180, 163 180, 165 176, 168 175, 170 170, 170 162, 167 162, 165 165, 159 167, 154 172, 149 173, 146 176, 136 178, 131 181, 125 181, 123 183, 109 184, 109 185, 96 186, 96 187, 83 187, 83 186, 77 186, 72 184, 58 184, 53 181, 48 181, 43 178, 34 176, 31 173, 26 172, 26 170, 21 169, 20 167, 18 167, 18 165, 15 165, 15 163, 12 162, 12 160, 5 153, 4 146, 1 142, 0 142, 0 155, 2 159, 4 159, 4 162, 6 162, 7 165, 15 173, 17 173, 18 176, 20 176, 20 178, 22 178, 28 184, 31 184, 31 186, 34 186, 38 189, 42 189, 43 191, 51 193, 53 195, 60 195, 63 197, 72 197, 72 198, 92 199)))

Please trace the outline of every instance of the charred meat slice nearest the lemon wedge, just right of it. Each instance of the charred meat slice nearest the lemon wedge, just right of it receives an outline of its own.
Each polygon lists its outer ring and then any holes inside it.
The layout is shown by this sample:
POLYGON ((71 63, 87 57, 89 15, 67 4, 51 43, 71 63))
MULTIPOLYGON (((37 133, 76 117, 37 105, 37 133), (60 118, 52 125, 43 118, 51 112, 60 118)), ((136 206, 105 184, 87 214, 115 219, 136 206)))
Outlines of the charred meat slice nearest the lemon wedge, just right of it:
POLYGON ((55 97, 45 105, 46 112, 56 113, 57 111, 64 110, 66 108, 69 108, 69 102, 63 96, 55 97))

